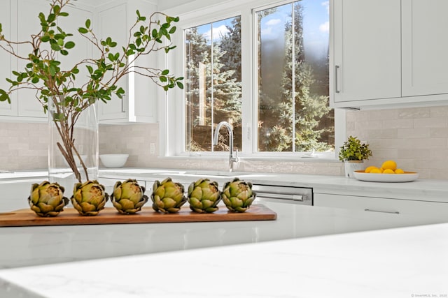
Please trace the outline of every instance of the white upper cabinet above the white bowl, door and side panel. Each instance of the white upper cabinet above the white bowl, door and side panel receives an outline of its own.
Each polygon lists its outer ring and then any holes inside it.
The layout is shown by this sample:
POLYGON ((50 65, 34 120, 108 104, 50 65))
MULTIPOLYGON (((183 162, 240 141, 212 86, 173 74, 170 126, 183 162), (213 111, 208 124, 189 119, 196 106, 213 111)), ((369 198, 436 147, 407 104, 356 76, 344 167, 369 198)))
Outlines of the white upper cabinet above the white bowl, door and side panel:
MULTIPOLYGON (((122 47, 129 40, 130 27, 137 20, 136 10, 148 20, 156 6, 146 1, 128 0, 113 1, 98 8, 99 36, 115 40, 118 43, 117 52, 123 52, 122 47)), ((158 62, 154 54, 152 57, 139 57, 136 63, 157 67, 158 62)), ((130 73, 119 84, 126 94, 123 99, 113 96, 108 103, 99 103, 100 123, 157 121, 157 90, 148 77, 130 73)))

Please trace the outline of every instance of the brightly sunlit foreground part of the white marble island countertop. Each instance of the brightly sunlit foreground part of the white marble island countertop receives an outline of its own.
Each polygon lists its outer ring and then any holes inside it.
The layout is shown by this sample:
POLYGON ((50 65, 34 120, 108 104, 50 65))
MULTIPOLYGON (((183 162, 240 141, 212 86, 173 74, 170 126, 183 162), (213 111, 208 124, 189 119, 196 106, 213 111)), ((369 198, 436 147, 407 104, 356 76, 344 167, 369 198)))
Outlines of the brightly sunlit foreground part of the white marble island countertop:
POLYGON ((447 234, 444 223, 3 269, 0 297, 447 297, 447 234))

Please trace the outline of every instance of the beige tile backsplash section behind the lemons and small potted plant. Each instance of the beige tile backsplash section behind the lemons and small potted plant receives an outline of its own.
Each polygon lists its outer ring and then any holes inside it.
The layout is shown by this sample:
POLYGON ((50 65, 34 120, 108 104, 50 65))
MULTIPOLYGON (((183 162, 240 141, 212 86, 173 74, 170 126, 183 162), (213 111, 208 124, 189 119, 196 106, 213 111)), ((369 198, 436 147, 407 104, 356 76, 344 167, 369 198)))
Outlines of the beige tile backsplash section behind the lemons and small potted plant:
POLYGON ((370 144, 367 165, 393 159, 421 178, 448 179, 448 106, 347 112, 346 135, 370 144))

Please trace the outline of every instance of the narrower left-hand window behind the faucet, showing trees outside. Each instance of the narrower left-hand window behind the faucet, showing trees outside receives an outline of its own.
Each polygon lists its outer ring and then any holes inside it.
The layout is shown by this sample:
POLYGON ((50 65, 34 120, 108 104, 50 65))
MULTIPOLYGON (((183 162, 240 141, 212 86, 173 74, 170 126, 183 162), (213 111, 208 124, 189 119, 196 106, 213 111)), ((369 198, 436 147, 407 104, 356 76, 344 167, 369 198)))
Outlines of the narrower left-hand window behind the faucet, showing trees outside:
POLYGON ((241 148, 240 24, 232 17, 185 30, 186 151, 228 151, 228 142, 212 146, 220 121, 233 126, 241 148))

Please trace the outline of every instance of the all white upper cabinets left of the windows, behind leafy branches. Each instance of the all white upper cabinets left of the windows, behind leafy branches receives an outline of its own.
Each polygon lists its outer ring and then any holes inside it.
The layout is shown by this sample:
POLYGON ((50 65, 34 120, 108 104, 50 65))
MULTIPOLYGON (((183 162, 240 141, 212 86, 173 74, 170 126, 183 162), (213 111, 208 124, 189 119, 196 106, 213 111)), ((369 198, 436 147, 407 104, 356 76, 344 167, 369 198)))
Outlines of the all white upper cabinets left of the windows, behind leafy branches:
MULTIPOLYGON (((60 17, 58 25, 64 31, 73 33, 71 40, 76 47, 66 57, 57 57, 62 68, 71 68, 74 64, 87 58, 98 57, 99 52, 89 40, 80 36, 78 28, 83 27, 85 20, 92 20, 92 28, 97 38, 111 37, 116 40, 117 52, 123 52, 122 46, 130 38, 130 28, 137 20, 136 11, 148 18, 157 9, 155 4, 146 0, 114 0, 107 1, 103 6, 92 6, 90 1, 76 1, 73 6, 66 7, 69 17, 60 17)), ((48 1, 45 0, 2 0, 0 1, 0 22, 3 34, 12 40, 30 40, 39 28, 38 13, 48 13, 48 1), (16 17, 17 16, 17 17, 16 17)), ((17 50, 17 49, 15 49, 17 50)), ((20 47, 18 54, 26 55, 30 48, 20 47)), ((0 87, 8 89, 6 77, 11 77, 11 71, 23 69, 25 61, 0 51, 2 67, 0 68, 0 87)), ((139 57, 134 66, 158 67, 157 55, 139 57), (151 56, 151 57, 150 57, 151 56)), ((76 84, 88 80, 87 70, 80 67, 76 76, 76 84)), ((125 98, 112 98, 107 104, 99 102, 100 123, 155 122, 157 121, 158 87, 151 79, 130 73, 120 82, 125 89, 125 98)), ((48 115, 43 112, 41 103, 36 98, 36 91, 20 89, 11 96, 11 104, 0 102, 0 120, 10 121, 48 121, 48 115)))

